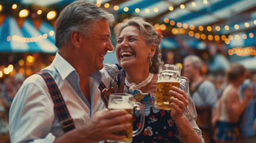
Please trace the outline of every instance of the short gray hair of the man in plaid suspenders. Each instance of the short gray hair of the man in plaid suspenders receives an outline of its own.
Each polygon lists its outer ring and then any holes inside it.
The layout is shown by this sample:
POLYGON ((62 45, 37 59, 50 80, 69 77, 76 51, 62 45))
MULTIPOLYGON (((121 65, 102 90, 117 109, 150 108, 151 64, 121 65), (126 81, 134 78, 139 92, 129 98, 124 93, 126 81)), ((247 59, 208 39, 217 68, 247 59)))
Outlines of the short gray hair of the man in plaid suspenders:
POLYGON ((71 32, 81 32, 85 37, 90 37, 97 28, 98 20, 105 18, 114 21, 113 14, 98 8, 95 4, 84 0, 74 1, 64 8, 57 18, 55 26, 55 45, 61 48, 70 38, 71 32))

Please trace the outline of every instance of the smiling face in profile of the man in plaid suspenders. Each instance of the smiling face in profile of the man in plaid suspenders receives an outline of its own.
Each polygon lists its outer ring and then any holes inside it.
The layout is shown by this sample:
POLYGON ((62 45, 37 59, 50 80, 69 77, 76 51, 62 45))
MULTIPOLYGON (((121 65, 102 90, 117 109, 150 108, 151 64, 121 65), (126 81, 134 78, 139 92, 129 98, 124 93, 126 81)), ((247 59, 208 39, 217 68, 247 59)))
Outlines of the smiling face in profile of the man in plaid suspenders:
POLYGON ((103 68, 104 55, 107 51, 113 50, 113 45, 110 42, 109 21, 104 18, 97 21, 96 29, 93 30, 91 36, 82 40, 82 55, 85 64, 89 65, 90 73, 103 68))

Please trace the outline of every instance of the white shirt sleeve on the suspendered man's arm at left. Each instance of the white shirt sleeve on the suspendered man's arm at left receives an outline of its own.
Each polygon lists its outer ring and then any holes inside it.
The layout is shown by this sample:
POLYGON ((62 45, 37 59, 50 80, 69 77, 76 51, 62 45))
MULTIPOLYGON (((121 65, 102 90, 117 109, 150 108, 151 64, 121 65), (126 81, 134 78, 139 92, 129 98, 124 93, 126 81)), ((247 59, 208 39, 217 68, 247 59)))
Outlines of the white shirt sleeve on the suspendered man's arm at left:
POLYGON ((38 76, 25 80, 11 105, 9 122, 13 143, 54 142, 51 133, 54 105, 44 80, 38 76))

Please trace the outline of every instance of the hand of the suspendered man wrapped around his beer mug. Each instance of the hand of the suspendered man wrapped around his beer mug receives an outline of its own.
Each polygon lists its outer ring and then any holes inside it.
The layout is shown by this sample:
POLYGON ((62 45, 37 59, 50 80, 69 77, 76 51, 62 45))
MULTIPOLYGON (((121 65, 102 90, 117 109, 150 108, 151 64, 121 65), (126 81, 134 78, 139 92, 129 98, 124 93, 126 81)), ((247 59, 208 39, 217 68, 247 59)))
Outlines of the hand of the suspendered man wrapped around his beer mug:
POLYGON ((113 132, 128 129, 132 126, 130 123, 121 123, 131 119, 131 114, 126 114, 125 110, 108 110, 105 108, 95 113, 82 128, 84 128, 85 136, 91 141, 121 140, 125 139, 126 136, 113 135, 113 132))

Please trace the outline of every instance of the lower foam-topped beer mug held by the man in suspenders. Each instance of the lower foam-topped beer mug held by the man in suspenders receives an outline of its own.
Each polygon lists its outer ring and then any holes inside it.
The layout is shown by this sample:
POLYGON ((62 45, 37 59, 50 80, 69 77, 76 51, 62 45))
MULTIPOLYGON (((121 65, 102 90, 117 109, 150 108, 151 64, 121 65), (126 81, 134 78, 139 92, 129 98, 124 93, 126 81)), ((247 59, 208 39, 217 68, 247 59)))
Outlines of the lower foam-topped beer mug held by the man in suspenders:
MULTIPOLYGON (((138 127, 137 130, 132 130, 132 119, 129 120, 128 122, 131 123, 131 127, 127 130, 121 130, 119 132, 114 133, 115 135, 124 135, 126 136, 125 139, 121 141, 113 141, 113 140, 107 140, 107 142, 132 142, 132 136, 138 135, 143 128, 144 128, 144 120, 145 120, 145 113, 144 113, 144 108, 143 106, 136 102, 134 103, 134 96, 131 94, 122 94, 122 93, 117 93, 117 94, 110 94, 109 95, 109 110, 115 110, 115 109, 124 109, 127 111, 127 114, 133 114, 133 109, 140 107, 141 114, 140 114, 140 126, 138 127)), ((124 122, 124 123, 128 123, 124 122)))

